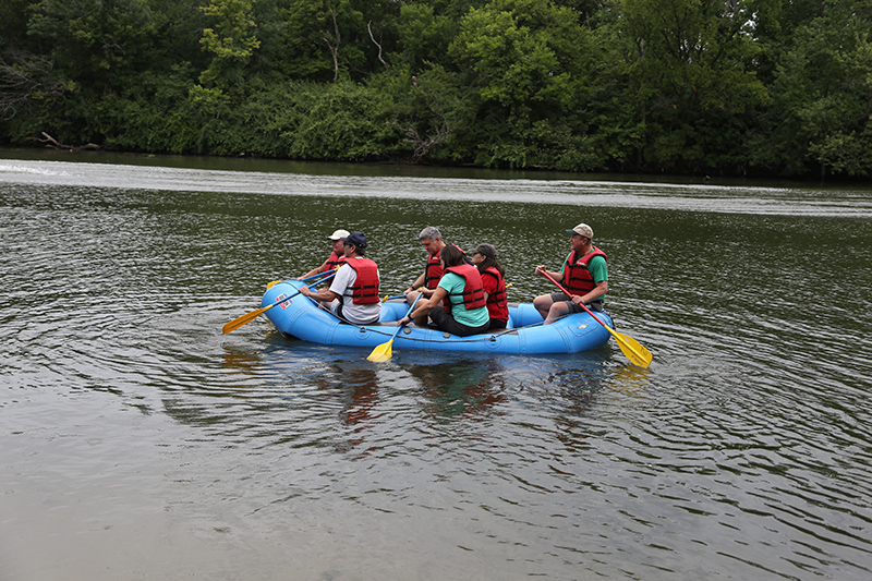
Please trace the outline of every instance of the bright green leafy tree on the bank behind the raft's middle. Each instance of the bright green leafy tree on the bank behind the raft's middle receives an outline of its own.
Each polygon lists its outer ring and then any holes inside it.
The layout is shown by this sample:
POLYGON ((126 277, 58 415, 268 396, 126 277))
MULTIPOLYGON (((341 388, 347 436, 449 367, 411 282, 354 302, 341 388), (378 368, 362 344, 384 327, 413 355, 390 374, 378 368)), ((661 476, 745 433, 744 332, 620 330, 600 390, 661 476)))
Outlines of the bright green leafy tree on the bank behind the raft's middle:
POLYGON ((586 45, 577 13, 548 0, 493 0, 462 19, 449 56, 481 99, 477 162, 544 167, 555 147, 580 145, 553 138, 584 132, 561 118, 578 106, 586 45))

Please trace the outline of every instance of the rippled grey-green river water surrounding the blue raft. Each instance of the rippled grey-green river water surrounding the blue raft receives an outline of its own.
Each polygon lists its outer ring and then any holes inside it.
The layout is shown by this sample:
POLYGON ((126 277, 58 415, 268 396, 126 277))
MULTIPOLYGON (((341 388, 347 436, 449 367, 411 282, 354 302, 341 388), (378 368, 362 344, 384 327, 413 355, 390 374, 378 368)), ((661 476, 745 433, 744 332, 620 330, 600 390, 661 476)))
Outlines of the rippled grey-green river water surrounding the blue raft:
POLYGON ((3 581, 872 578, 872 189, 0 150, 0 289, 3 581), (649 370, 220 330, 336 228, 529 301, 580 221, 649 370))

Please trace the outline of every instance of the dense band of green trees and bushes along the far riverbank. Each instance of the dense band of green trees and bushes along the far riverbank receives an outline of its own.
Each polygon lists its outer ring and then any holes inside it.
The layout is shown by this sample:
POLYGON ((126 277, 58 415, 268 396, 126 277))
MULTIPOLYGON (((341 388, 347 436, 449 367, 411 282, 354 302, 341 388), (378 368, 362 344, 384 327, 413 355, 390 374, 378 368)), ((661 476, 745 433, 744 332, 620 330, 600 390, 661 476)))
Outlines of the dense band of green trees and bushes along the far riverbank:
POLYGON ((870 0, 3 0, 0 140, 865 177, 870 0))

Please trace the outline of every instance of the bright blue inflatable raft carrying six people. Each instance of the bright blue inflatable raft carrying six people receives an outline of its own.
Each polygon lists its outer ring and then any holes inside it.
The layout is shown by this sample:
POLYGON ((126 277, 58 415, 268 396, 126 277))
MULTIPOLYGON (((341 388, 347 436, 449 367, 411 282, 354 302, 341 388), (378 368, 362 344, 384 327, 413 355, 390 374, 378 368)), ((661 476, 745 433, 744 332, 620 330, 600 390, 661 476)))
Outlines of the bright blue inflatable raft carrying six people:
MULTIPOLYGON (((287 280, 264 293, 262 306, 281 302, 266 312, 269 320, 284 335, 313 343, 373 349, 397 330, 396 322, 405 315, 409 305, 388 301, 382 304, 382 317, 373 325, 342 323, 315 301, 299 294, 303 282, 287 280), (288 299, 290 296, 290 299, 288 299), (286 300, 287 299, 287 300, 286 300)), ((611 326, 608 313, 597 313, 611 326)), ((564 317, 542 325, 542 316, 531 303, 509 306, 509 328, 472 337, 458 337, 438 329, 410 325, 393 340, 393 350, 471 351, 494 353, 577 353, 608 342, 608 331, 588 313, 564 317)))

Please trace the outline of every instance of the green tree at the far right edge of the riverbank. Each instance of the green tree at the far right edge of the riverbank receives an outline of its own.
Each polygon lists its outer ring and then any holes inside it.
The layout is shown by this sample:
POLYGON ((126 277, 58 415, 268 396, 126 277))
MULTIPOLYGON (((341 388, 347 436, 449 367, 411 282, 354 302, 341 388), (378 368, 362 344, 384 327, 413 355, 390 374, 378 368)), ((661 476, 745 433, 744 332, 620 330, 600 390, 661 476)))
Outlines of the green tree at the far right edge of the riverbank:
POLYGON ((872 172, 872 7, 826 3, 778 62, 770 167, 787 173, 872 172))

